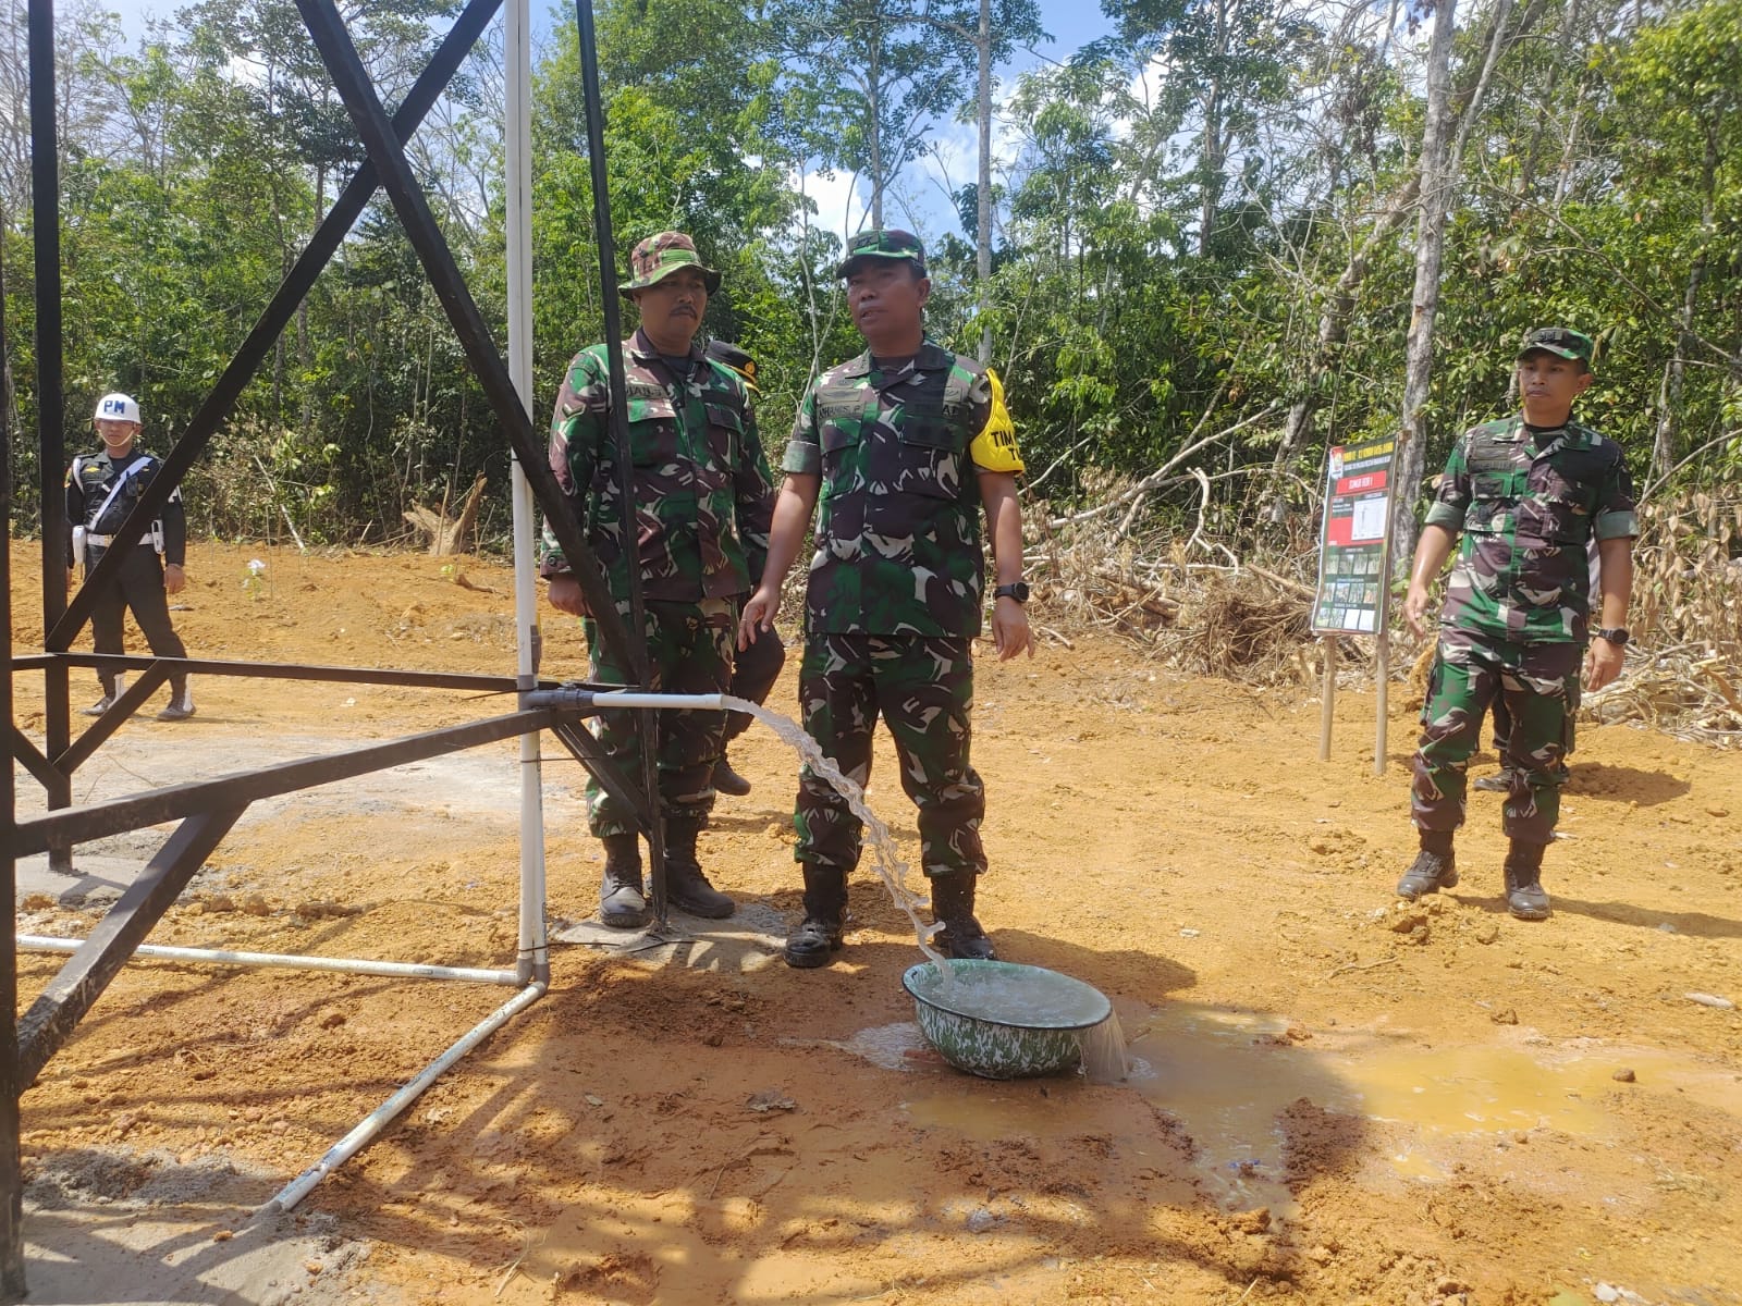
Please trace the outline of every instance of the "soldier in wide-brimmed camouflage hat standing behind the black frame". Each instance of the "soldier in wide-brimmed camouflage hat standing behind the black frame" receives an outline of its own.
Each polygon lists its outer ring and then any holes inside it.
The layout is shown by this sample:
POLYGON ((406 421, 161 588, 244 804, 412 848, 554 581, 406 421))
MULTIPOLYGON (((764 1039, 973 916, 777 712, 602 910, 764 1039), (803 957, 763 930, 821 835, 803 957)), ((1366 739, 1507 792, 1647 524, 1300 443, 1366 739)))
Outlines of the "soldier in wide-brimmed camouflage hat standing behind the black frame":
MULTIPOLYGON (((732 669, 737 608, 761 575, 768 552, 773 482, 756 434, 742 378, 709 362, 693 338, 719 287, 681 232, 648 237, 631 254, 631 279, 618 289, 634 300, 641 327, 624 348, 629 444, 634 461, 636 542, 624 540, 617 448, 610 430, 610 369, 603 345, 584 348, 550 421, 550 470, 582 533, 604 568, 617 611, 629 620, 629 555, 641 557, 652 690, 721 693, 732 669)), ((580 583, 545 529, 540 573, 550 603, 585 618, 592 679, 627 684, 599 641, 580 583)), ((592 730, 604 752, 632 770, 634 717, 603 712, 592 730)), ((665 867, 671 902, 697 916, 730 916, 733 902, 707 883, 695 839, 714 804, 711 777, 719 761, 719 712, 660 712, 658 785, 665 810, 665 867)), ((634 928, 648 919, 634 813, 596 782, 587 784, 587 817, 604 843, 599 918, 634 928)))

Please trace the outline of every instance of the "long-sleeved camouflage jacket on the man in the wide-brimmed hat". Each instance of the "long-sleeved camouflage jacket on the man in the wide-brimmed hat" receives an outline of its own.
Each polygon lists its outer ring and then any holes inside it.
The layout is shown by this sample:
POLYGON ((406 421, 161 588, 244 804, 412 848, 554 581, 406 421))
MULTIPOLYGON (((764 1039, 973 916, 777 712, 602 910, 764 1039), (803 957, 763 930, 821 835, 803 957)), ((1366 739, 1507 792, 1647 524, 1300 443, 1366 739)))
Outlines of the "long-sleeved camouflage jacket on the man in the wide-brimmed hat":
MULTIPOLYGON (((643 594, 725 599, 746 594, 768 559, 773 479, 744 380, 692 347, 679 381, 639 331, 624 345, 629 456, 643 594)), ((624 508, 611 439, 604 345, 575 355, 550 420, 550 470, 611 594, 629 596, 624 508)), ((540 573, 568 571, 549 524, 540 573)))

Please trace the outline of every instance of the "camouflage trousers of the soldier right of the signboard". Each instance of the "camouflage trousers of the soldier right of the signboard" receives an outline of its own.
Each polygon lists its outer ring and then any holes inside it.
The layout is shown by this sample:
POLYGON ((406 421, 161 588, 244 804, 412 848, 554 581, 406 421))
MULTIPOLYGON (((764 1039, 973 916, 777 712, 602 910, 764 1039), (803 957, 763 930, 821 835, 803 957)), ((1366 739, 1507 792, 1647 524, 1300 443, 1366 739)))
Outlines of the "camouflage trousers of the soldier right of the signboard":
POLYGON ((1463 824, 1465 770, 1482 717, 1500 697, 1510 716, 1500 761, 1512 780, 1502 829, 1521 843, 1554 838, 1583 655, 1582 644, 1521 644, 1441 629, 1413 759, 1409 813, 1416 829, 1455 831, 1463 824))

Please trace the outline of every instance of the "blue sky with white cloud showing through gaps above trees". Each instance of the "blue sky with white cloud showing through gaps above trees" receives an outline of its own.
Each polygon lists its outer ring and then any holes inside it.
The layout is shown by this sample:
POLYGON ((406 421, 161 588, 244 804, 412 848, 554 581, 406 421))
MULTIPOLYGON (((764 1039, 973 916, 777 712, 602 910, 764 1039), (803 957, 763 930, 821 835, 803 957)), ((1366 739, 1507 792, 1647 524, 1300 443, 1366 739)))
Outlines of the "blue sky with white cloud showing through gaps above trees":
MULTIPOLYGON (((185 0, 106 0, 106 7, 120 16, 124 30, 131 37, 145 35, 146 17, 174 16, 185 0)), ((550 5, 549 0, 531 0, 535 42, 540 40, 556 21, 566 21, 573 10, 568 5, 550 5)), ((1000 87, 996 94, 1007 94, 1016 77, 1045 61, 1064 61, 1082 45, 1104 37, 1111 24, 1101 14, 1096 0, 1040 0, 1040 23, 1052 40, 1036 45, 1033 50, 1017 50, 1016 56, 998 68, 1000 87)), ((996 131, 996 129, 995 129, 996 131)), ((937 131, 935 155, 916 160, 897 179, 895 195, 885 207, 885 221, 890 225, 909 223, 927 237, 942 235, 960 226, 948 200, 951 188, 974 178, 976 169, 976 134, 970 124, 942 124, 937 131)), ((995 146, 996 148, 996 146, 995 146)), ((1009 146, 1005 151, 1007 153, 1009 146)), ((864 195, 850 178, 824 178, 807 174, 801 178, 805 193, 817 200, 817 223, 833 232, 843 228, 855 230, 862 221, 864 195)))

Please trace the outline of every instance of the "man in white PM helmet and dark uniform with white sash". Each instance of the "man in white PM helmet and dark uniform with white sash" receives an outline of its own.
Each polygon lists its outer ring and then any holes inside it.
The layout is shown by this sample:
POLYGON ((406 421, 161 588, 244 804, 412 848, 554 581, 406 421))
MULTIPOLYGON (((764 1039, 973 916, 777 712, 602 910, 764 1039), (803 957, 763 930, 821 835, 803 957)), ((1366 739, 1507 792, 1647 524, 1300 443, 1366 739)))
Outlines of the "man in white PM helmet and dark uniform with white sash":
MULTIPOLYGON (((66 472, 66 566, 84 562, 85 575, 110 549, 110 538, 132 512, 139 495, 152 484, 160 463, 136 446, 139 404, 131 395, 110 394, 98 401, 98 435, 103 449, 73 458, 66 472)), ((125 653, 122 622, 127 609, 139 623, 152 653, 160 658, 185 658, 186 646, 169 620, 169 597, 179 594, 188 576, 183 569, 188 549, 188 521, 181 508, 179 486, 169 493, 164 515, 138 543, 127 549, 120 571, 96 597, 91 609, 91 637, 98 653, 125 653)), ((99 670, 103 697, 84 709, 85 716, 103 716, 122 690, 122 676, 99 670)), ((186 721, 193 716, 193 691, 186 672, 169 677, 169 705, 159 721, 186 721)))

